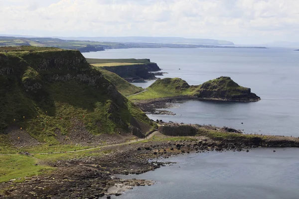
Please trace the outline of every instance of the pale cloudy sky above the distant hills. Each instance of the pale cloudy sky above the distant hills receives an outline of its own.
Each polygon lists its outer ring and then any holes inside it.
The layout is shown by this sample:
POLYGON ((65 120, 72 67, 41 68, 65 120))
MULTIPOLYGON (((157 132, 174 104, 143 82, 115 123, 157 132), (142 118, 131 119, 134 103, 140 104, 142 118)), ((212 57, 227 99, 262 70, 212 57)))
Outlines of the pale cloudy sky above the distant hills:
POLYGON ((299 42, 299 0, 0 0, 0 34, 299 42))

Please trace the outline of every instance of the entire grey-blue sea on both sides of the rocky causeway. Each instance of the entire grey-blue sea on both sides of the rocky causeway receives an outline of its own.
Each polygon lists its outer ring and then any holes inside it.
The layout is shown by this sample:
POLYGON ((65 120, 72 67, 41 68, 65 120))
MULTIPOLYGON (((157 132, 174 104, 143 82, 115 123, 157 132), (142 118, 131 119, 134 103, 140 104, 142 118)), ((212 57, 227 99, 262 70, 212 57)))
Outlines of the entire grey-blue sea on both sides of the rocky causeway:
MULTIPOLYGON (((150 59, 165 72, 200 85, 221 76, 251 88, 258 102, 186 101, 148 115, 163 121, 228 126, 249 134, 299 137, 299 51, 291 48, 112 49, 86 58, 150 59)), ((154 81, 135 83, 143 88, 154 81)), ((167 160, 168 161, 168 160, 167 160)), ((210 152, 173 158, 177 164, 133 178, 154 180, 119 199, 299 199, 299 149, 210 152)))

